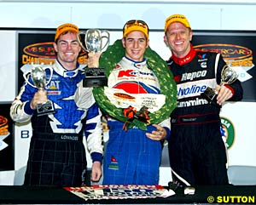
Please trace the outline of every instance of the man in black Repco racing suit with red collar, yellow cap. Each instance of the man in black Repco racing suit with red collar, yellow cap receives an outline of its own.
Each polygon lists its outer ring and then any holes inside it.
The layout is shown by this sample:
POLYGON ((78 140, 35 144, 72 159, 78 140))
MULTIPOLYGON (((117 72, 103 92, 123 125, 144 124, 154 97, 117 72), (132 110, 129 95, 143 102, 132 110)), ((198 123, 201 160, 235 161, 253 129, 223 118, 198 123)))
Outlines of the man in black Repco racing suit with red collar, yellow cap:
MULTIPOLYGON (((177 107, 172 111, 168 143, 172 170, 190 185, 228 184, 219 112, 224 101, 241 100, 241 83, 236 80, 219 86, 226 66, 222 56, 195 51, 190 44, 189 21, 182 14, 166 19, 164 39, 172 48, 167 64, 177 83, 177 107), (207 87, 218 91, 217 105, 201 96, 207 87)), ((173 176, 173 181, 176 179, 173 176)))

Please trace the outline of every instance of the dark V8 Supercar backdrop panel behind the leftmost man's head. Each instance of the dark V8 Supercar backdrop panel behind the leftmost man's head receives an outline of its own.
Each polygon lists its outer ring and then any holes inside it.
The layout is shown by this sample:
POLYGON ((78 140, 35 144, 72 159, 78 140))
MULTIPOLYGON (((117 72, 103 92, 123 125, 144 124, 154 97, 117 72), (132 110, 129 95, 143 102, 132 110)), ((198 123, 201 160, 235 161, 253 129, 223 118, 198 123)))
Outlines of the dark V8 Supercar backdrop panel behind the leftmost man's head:
MULTIPOLYGON (((50 65, 55 62, 53 40, 55 31, 19 31, 18 33, 18 90, 24 83, 23 73, 32 65, 50 65)), ((87 64, 87 53, 82 50, 79 63, 87 64)))

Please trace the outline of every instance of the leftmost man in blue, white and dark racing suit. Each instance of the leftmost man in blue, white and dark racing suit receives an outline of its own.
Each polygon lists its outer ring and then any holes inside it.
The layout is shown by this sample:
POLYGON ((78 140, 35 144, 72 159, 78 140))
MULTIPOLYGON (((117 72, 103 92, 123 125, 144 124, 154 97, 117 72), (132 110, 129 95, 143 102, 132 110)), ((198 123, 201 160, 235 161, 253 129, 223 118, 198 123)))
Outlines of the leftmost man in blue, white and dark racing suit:
MULTIPOLYGON (((45 68, 45 90, 34 88, 28 78, 15 98, 10 115, 15 122, 32 122, 32 139, 24 185, 81 186, 86 171, 83 132, 92 157, 91 180, 102 175, 102 113, 92 88, 83 88, 84 69, 78 63, 81 50, 79 28, 64 24, 57 28, 53 69, 45 68), (51 100, 55 113, 38 116, 36 107, 51 100)), ((37 65, 34 65, 37 66, 37 65)), ((38 65, 43 66, 43 65, 38 65)), ((44 67, 44 66, 43 66, 44 67)))

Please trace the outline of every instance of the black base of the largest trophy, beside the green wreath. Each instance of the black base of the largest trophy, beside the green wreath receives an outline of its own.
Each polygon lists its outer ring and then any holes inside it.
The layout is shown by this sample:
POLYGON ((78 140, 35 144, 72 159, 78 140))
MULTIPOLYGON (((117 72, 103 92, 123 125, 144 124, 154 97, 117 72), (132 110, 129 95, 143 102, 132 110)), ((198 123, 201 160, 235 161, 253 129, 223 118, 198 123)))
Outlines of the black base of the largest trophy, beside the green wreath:
POLYGON ((85 68, 85 78, 83 80, 84 88, 95 88, 108 85, 108 78, 103 68, 93 67, 85 68))

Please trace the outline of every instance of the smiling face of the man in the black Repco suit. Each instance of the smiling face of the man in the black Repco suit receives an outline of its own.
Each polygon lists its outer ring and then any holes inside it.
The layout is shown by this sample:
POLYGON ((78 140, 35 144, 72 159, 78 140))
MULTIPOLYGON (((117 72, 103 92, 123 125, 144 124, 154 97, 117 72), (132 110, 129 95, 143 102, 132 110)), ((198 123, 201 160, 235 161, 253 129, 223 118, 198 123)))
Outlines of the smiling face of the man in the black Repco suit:
POLYGON ((178 58, 189 54, 192 31, 182 23, 174 22, 166 30, 164 40, 178 58))

